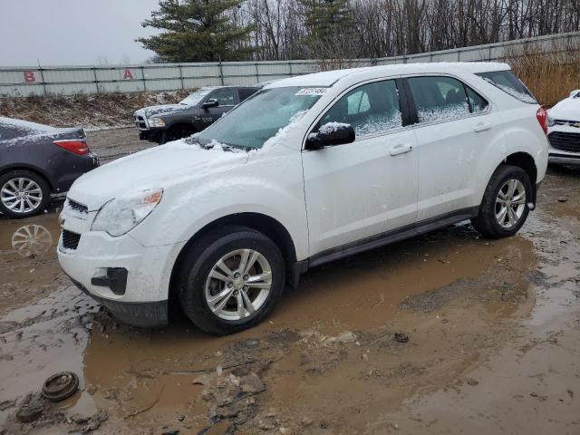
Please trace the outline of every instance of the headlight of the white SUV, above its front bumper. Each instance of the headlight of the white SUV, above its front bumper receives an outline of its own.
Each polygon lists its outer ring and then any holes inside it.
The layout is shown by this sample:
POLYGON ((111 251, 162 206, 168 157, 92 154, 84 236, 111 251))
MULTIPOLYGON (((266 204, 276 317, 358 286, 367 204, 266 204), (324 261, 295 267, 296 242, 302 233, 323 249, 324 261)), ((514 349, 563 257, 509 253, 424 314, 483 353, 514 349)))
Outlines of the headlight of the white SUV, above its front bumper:
POLYGON ((160 203, 163 189, 131 192, 107 202, 92 222, 92 231, 106 231, 112 237, 128 233, 147 218, 160 203))

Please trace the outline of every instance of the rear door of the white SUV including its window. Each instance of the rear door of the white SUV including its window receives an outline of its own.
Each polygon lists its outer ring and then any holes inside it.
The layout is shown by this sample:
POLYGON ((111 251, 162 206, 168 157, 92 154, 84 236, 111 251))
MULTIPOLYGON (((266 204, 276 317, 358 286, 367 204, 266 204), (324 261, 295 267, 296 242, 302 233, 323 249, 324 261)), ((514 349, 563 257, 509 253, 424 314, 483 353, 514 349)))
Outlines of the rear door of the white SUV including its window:
POLYGON ((503 140, 489 102, 456 77, 408 77, 415 110, 419 165, 418 222, 466 213, 477 206, 487 180, 475 167, 488 146, 503 140))

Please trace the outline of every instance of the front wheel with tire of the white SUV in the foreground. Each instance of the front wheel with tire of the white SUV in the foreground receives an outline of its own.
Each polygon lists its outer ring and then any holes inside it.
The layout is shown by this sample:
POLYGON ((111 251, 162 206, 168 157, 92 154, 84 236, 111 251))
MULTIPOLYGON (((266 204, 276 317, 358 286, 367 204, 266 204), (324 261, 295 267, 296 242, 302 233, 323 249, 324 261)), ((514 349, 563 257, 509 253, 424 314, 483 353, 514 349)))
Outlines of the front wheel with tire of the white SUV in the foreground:
POLYGON ((247 227, 222 227, 202 237, 181 263, 179 299, 199 329, 219 335, 258 324, 285 285, 275 243, 247 227))

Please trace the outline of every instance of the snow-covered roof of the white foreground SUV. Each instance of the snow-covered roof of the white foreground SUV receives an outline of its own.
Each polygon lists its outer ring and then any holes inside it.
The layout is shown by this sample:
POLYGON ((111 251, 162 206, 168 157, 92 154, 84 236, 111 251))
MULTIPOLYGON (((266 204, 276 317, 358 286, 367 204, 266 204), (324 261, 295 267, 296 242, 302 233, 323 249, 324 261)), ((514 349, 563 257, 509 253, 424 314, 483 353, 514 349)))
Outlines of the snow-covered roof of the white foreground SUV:
POLYGON ((345 70, 327 71, 298 75, 277 82, 269 83, 266 88, 286 86, 332 86, 335 82, 357 73, 369 73, 376 76, 389 76, 409 73, 453 73, 458 71, 484 73, 489 71, 509 70, 507 63, 498 62, 439 62, 439 63, 396 63, 392 65, 367 66, 345 70))

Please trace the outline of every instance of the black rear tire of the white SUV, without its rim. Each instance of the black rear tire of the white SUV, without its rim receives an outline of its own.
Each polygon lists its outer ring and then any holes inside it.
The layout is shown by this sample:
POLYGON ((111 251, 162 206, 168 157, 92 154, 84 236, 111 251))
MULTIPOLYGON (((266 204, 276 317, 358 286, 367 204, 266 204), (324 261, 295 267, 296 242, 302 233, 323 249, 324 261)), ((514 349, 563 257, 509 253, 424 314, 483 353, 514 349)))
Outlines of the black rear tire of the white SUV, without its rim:
POLYGON ((529 213, 527 202, 530 198, 533 198, 533 189, 534 187, 524 169, 511 165, 499 166, 491 176, 491 179, 489 179, 488 187, 479 206, 478 216, 471 219, 471 224, 483 237, 502 238, 515 235, 526 222, 529 213), (496 199, 499 195, 499 189, 502 189, 510 179, 517 179, 522 183, 526 191, 526 203, 517 223, 507 228, 502 227, 498 222, 498 218, 496 218, 496 199))

